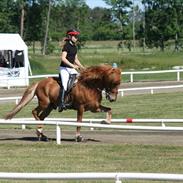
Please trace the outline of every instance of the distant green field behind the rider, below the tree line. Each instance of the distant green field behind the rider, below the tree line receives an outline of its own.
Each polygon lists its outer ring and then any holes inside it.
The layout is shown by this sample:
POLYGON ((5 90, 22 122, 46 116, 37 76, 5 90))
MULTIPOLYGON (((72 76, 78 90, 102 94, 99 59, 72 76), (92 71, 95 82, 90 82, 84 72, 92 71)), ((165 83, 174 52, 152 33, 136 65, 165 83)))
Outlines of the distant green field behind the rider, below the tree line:
MULTIPOLYGON (((59 48, 59 47, 58 47, 59 48)), ((183 52, 158 52, 147 50, 145 53, 139 49, 135 52, 117 50, 116 41, 87 42, 85 47, 78 53, 79 59, 86 67, 99 65, 101 63, 112 64, 116 62, 125 71, 140 70, 165 70, 173 66, 183 65, 183 52)), ((60 64, 60 53, 57 51, 52 55, 42 56, 29 53, 30 63, 34 75, 57 74, 60 64)), ((175 73, 151 74, 135 76, 136 80, 175 80, 175 73)), ((123 81, 129 81, 129 76, 124 76, 123 81)))

